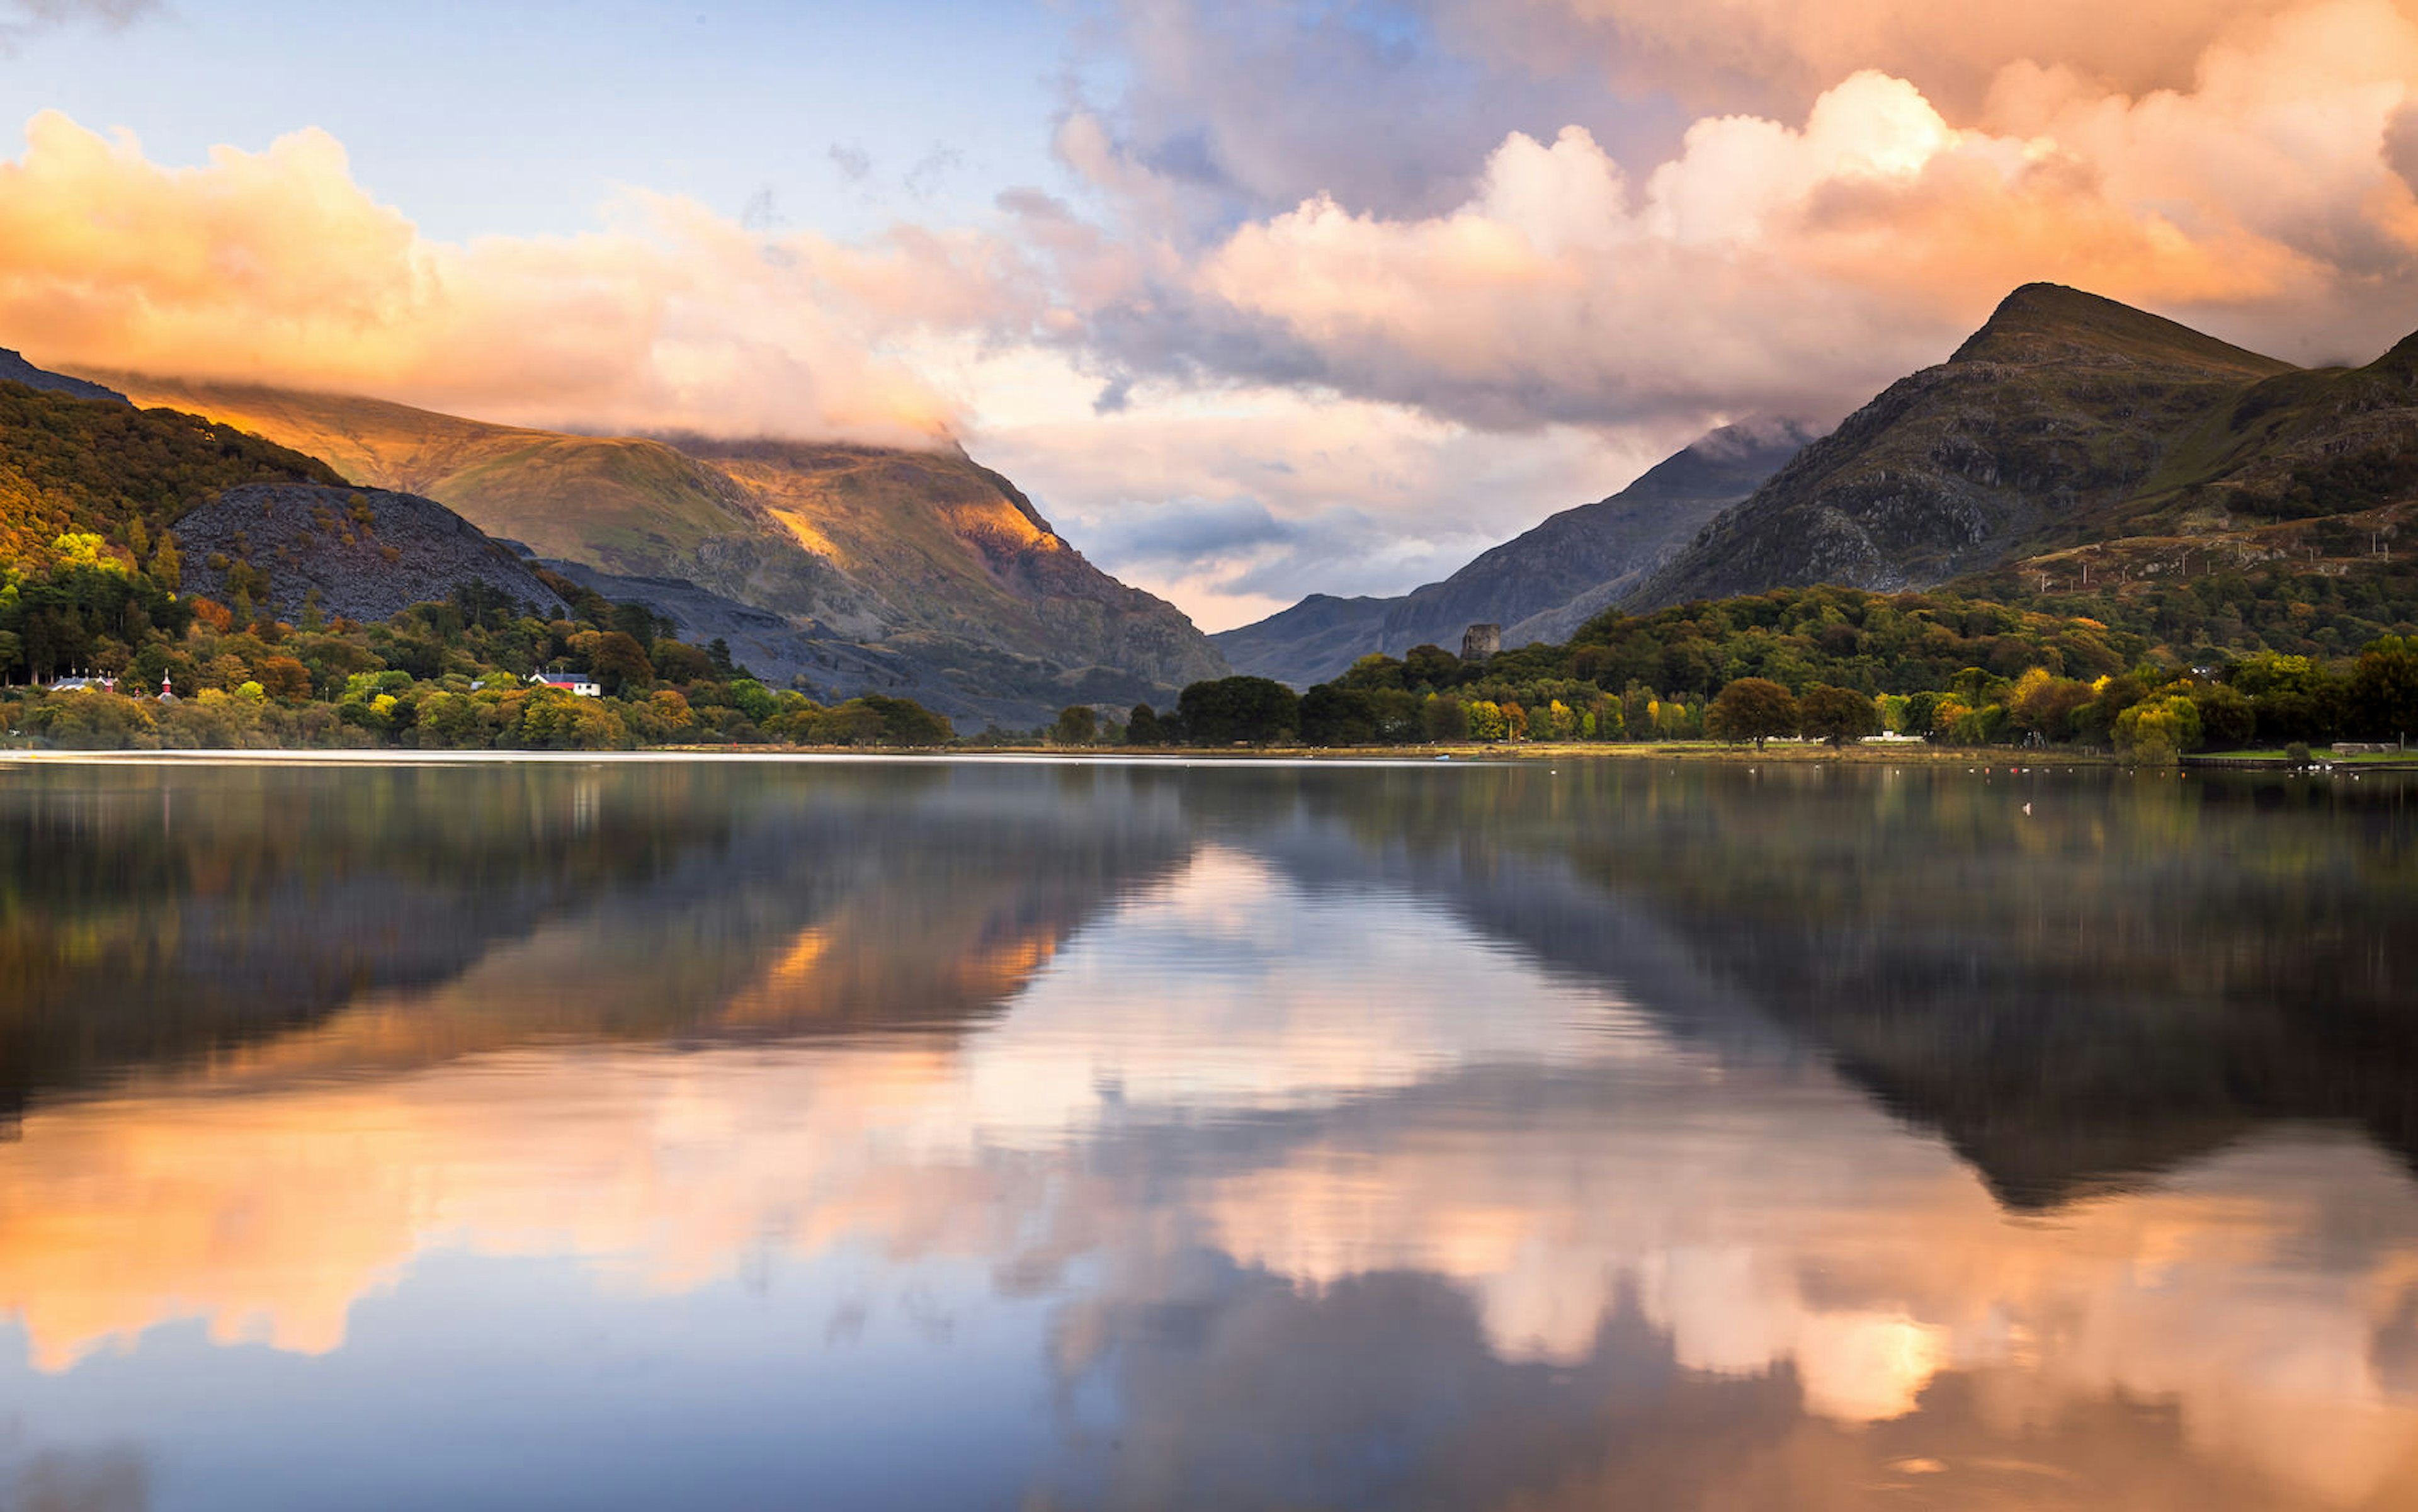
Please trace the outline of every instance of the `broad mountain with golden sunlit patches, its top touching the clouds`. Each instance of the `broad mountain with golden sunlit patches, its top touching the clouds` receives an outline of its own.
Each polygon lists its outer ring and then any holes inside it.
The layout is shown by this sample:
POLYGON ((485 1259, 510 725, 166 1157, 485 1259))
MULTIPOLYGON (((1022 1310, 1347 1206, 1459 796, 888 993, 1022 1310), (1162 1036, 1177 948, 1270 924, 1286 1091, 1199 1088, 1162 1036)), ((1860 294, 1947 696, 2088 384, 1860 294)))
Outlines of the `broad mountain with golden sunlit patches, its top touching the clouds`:
POLYGON ((897 692, 962 721, 1030 726, 1074 702, 1165 702, 1226 673, 1182 612, 1095 569, 1008 479, 953 448, 568 435, 341 394, 102 377, 138 404, 193 409, 435 498, 815 694, 897 692))

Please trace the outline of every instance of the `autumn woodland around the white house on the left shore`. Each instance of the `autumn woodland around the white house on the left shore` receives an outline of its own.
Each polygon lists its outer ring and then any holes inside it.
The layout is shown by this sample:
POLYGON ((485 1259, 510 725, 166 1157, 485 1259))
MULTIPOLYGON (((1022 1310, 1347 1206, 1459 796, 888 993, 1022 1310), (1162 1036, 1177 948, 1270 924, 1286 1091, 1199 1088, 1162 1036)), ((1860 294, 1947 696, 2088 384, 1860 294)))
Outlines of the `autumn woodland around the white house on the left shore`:
POLYGON ((48 566, 0 578, 0 731, 65 748, 522 748, 943 745, 950 723, 909 699, 834 706, 769 689, 728 648, 687 646, 638 605, 568 578, 546 585, 571 619, 537 619, 476 583, 387 624, 242 622, 177 598, 123 547, 89 532, 51 542, 48 566), (17 680, 106 673, 118 692, 44 692, 17 680), (539 668, 590 673, 600 699, 532 687, 539 668), (162 682, 174 699, 157 699, 162 682))

